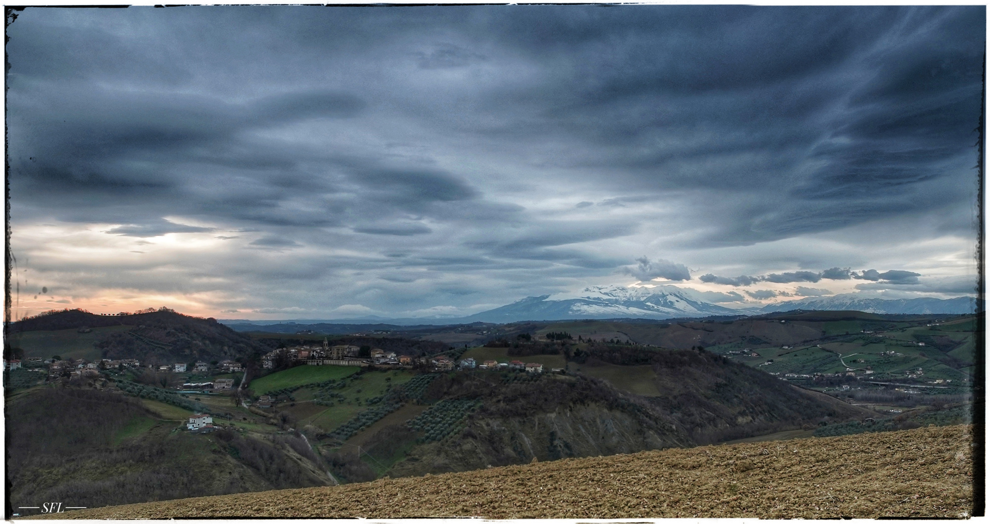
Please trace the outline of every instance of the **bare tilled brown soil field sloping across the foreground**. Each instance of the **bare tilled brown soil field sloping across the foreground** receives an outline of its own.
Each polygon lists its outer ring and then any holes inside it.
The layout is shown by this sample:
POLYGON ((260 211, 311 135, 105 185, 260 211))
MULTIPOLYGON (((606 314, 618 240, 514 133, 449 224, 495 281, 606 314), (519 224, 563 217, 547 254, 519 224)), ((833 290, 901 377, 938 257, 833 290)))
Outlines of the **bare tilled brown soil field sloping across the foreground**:
MULTIPOLYGON (((971 426, 648 451, 76 510, 60 518, 965 517, 971 426)), ((36 516, 32 518, 46 518, 36 516)))

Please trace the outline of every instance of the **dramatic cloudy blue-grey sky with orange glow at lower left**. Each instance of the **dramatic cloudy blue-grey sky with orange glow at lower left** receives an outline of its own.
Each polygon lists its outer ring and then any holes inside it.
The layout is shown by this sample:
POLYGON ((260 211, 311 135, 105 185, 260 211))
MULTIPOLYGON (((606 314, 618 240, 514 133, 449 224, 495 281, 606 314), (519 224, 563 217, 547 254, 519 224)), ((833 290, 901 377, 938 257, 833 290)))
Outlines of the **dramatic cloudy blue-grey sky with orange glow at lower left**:
POLYGON ((28 8, 14 316, 974 295, 985 7, 28 8))

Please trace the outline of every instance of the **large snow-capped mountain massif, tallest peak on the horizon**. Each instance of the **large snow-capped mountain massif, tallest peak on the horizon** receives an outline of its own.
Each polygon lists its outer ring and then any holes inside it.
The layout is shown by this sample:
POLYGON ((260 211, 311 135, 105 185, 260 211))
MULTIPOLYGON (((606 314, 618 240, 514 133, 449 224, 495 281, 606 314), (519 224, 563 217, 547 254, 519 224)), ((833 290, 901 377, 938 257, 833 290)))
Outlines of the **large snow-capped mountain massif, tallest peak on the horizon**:
POLYGON ((472 314, 468 321, 517 322, 568 318, 676 318, 738 315, 741 311, 701 301, 692 290, 676 286, 623 288, 596 286, 577 294, 528 297, 508 306, 472 314))

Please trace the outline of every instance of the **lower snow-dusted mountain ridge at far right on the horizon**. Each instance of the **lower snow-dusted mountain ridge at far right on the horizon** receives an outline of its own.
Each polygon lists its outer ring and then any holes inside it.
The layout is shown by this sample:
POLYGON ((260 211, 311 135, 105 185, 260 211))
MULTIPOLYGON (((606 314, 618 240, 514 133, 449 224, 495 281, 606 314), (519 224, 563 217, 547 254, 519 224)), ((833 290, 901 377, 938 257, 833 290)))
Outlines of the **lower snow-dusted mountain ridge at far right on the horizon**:
POLYGON ((962 314, 976 310, 976 299, 959 297, 957 299, 864 299, 855 293, 845 293, 834 297, 809 297, 799 301, 787 301, 771 304, 759 309, 759 312, 790 311, 792 309, 817 310, 853 310, 882 314, 962 314))

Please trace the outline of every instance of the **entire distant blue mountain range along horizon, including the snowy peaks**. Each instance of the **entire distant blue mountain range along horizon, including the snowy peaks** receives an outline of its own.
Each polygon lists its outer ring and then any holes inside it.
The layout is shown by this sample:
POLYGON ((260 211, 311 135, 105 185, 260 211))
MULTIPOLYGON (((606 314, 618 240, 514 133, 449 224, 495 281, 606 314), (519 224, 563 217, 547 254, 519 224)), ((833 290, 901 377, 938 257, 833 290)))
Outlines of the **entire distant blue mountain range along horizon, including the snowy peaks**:
MULTIPOLYGON (((586 288, 574 296, 550 295, 527 297, 507 306, 496 307, 469 316, 433 316, 419 318, 383 318, 368 316, 343 320, 293 320, 300 324, 311 323, 379 323, 409 324, 460 324, 471 322, 508 323, 525 320, 566 320, 581 318, 692 318, 704 316, 740 316, 763 314, 793 309, 807 310, 857 310, 881 314, 963 314, 976 310, 976 299, 865 299, 859 294, 848 293, 834 297, 809 297, 762 307, 732 308, 705 302, 702 294, 676 286, 654 288, 623 288, 596 286, 586 288)), ((284 323, 288 320, 220 320, 226 324, 284 323)))

